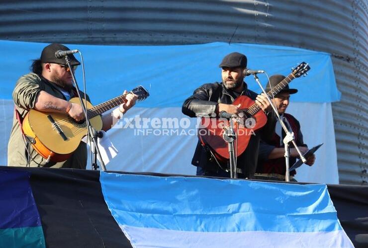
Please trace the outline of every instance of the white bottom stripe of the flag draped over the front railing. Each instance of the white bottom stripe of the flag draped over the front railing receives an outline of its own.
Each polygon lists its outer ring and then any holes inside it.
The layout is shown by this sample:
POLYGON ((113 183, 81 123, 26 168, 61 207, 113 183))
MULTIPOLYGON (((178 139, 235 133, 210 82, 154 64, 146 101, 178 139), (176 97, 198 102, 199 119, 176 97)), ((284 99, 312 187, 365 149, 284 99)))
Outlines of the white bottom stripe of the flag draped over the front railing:
POLYGON ((351 241, 346 236, 343 230, 313 233, 284 233, 263 231, 216 233, 188 232, 129 226, 121 226, 121 228, 124 233, 129 234, 132 246, 139 248, 353 247, 351 241))

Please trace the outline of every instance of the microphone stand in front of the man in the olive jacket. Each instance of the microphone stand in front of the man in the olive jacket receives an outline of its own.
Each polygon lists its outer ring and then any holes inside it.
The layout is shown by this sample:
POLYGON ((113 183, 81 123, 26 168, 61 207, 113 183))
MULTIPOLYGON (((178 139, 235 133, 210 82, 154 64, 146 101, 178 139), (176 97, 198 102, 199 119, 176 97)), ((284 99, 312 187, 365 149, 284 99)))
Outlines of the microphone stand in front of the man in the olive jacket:
POLYGON ((102 161, 101 153, 100 153, 100 151, 98 149, 98 145, 97 145, 97 132, 90 123, 90 119, 89 119, 88 114, 87 114, 87 108, 86 108, 85 103, 83 102, 81 94, 79 93, 79 87, 78 87, 78 84, 77 84, 77 80, 76 80, 76 77, 74 75, 74 71, 72 69, 72 66, 71 66, 68 55, 65 55, 64 58, 65 58, 65 62, 67 63, 67 65, 69 67, 69 70, 72 74, 74 86, 77 89, 77 94, 78 94, 79 100, 81 102, 83 113, 85 114, 86 126, 87 126, 87 135, 90 138, 90 140, 92 140, 92 143, 93 143, 93 147, 91 147, 91 149, 93 150, 92 169, 97 170, 97 168, 98 168, 98 166, 97 166, 97 157, 96 157, 96 155, 98 155, 99 161, 101 162, 101 168, 102 168, 103 171, 106 171, 105 164, 102 161))

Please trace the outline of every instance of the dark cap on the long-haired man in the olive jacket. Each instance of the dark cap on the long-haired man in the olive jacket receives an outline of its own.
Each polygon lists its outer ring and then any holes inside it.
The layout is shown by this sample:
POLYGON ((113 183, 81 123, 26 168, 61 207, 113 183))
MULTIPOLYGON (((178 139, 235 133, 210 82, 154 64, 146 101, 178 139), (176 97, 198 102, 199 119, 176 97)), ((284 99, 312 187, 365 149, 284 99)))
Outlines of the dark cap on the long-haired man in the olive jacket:
MULTIPOLYGON (((64 45, 61 44, 50 44, 48 46, 46 46, 41 53, 41 62, 43 63, 58 63, 58 64, 63 64, 63 65, 67 65, 67 63, 65 62, 64 58, 56 58, 55 56, 55 52, 57 51, 67 51, 70 50, 69 48, 67 48, 64 45)), ((69 60, 71 65, 80 65, 81 63, 79 61, 77 61, 77 59, 74 57, 74 55, 68 55, 69 60)))

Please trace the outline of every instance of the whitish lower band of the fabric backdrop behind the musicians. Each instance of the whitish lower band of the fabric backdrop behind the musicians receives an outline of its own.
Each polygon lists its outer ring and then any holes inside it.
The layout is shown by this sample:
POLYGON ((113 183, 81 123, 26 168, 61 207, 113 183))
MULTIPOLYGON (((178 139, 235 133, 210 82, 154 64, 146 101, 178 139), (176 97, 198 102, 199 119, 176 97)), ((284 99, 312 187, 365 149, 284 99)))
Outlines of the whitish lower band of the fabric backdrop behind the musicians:
MULTIPOLYGON (((0 100, 0 110, 0 123, 3 127, 0 129, 0 135, 4 137, 0 145, 0 165, 6 165, 7 141, 13 115, 12 101, 0 100)), ((324 143, 316 152, 316 162, 312 167, 302 165, 297 169, 296 180, 338 184, 331 103, 290 103, 287 113, 299 120, 304 142, 309 147, 324 143)), ((185 127, 186 123, 182 124, 185 127)), ((112 143, 119 150, 118 155, 107 164, 107 170, 195 175, 195 167, 191 165, 191 158, 197 143, 195 124, 195 118, 187 118, 182 114, 181 108, 177 107, 131 109, 124 115, 124 119, 115 125, 115 128, 107 132, 112 143), (145 133, 138 133, 138 128, 135 127, 124 127, 130 118, 136 116, 151 119, 148 122, 148 128, 143 128, 145 133), (179 128, 175 126, 174 128, 154 128, 153 118, 157 118, 156 121, 177 118, 179 128), (181 127, 180 120, 182 119, 190 120, 188 128, 181 127), (163 129, 168 130, 168 133, 165 133, 163 129)), ((88 169, 91 169, 90 164, 88 169)))

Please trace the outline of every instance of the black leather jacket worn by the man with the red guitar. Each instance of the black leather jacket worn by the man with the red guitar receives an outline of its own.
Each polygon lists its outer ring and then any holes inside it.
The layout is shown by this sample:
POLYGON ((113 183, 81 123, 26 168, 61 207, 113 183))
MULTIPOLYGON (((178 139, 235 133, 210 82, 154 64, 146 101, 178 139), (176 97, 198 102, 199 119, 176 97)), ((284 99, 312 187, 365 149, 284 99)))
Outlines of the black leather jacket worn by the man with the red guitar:
MULTIPOLYGON (((257 93, 248 89, 244 83, 244 91, 241 95, 245 95, 255 100, 257 93)), ((222 83, 208 83, 197 88, 193 95, 184 101, 182 112, 189 117, 197 117, 202 114, 211 115, 215 113, 217 103, 231 104, 234 102, 234 93, 223 87, 222 83)), ((275 118, 273 113, 268 114, 267 124, 257 130, 256 135, 252 135, 249 140, 247 149, 238 156, 237 167, 246 178, 253 178, 257 166, 258 150, 260 146, 260 138, 270 140, 275 130, 275 118)), ((222 170, 208 148, 203 147, 198 140, 191 164, 202 167, 204 170, 217 172, 222 170)), ((228 168, 228 164, 220 164, 222 168, 228 168)))

